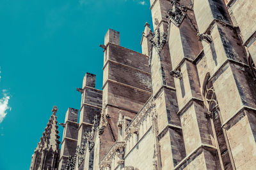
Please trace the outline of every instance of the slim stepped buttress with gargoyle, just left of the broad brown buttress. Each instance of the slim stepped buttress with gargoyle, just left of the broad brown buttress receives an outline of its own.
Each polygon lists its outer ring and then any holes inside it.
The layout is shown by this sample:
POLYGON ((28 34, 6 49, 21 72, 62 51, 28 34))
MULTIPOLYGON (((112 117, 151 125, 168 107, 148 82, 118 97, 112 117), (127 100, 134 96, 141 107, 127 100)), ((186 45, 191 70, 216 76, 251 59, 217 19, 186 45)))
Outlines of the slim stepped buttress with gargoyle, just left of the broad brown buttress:
MULTIPOLYGON (((78 128, 77 147, 81 148, 84 133, 92 132, 93 124, 98 123, 102 110, 102 90, 95 89, 95 74, 86 73, 83 79, 83 89, 77 89, 81 92, 81 109, 78 128), (97 122, 95 121, 97 117, 97 122)), ((76 161, 76 170, 93 169, 93 150, 88 149, 88 141, 84 151, 84 160, 81 164, 76 161)), ((78 159, 78 158, 77 158, 78 159)))

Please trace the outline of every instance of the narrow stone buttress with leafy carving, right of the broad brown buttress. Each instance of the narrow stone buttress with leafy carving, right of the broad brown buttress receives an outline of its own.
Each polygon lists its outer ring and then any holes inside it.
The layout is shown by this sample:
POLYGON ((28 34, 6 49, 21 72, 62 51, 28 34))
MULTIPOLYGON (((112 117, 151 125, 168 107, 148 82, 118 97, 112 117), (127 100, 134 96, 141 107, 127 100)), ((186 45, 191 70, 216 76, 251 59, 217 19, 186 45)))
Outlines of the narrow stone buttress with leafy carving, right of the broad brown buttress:
MULTIPOLYGON (((161 162, 157 162, 159 169, 172 169, 185 157, 180 118, 177 116, 178 105, 175 92, 167 40, 168 22, 166 15, 171 8, 170 1, 150 1, 152 19, 154 22, 154 36, 150 54, 150 69, 152 74, 152 89, 156 103, 158 143, 161 162)), ((157 147, 158 147, 157 146, 157 147)))

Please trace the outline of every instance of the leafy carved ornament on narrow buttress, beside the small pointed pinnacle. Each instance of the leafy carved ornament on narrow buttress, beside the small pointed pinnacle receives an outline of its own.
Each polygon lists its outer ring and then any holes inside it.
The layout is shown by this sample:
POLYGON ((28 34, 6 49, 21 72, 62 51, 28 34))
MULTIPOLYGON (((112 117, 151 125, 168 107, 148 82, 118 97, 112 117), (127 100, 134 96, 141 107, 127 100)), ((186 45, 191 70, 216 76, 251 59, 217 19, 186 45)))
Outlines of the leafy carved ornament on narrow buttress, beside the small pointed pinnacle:
POLYGON ((156 48, 157 53, 160 53, 164 44, 166 43, 167 35, 157 29, 153 33, 153 38, 150 39, 150 43, 156 48))

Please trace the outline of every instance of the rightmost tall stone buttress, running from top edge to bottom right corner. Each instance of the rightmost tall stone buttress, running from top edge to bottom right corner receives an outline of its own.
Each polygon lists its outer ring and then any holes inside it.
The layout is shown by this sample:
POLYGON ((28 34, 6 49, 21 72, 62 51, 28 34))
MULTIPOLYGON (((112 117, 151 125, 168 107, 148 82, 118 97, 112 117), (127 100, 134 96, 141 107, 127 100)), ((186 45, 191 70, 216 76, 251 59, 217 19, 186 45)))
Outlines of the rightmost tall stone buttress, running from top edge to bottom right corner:
POLYGON ((204 46, 204 55, 198 59, 200 81, 210 74, 233 167, 250 169, 256 162, 256 87, 243 42, 223 1, 195 0, 194 11, 204 46))

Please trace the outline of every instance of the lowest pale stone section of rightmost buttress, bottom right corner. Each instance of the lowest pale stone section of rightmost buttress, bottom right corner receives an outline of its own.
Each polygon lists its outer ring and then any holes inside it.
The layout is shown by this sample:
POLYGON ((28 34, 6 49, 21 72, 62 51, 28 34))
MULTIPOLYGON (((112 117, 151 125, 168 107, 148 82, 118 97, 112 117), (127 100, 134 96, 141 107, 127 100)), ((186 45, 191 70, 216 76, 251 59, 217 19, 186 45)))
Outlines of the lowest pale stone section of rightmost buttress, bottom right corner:
POLYGON ((256 167, 255 121, 255 111, 245 110, 225 127, 236 169, 256 167))

